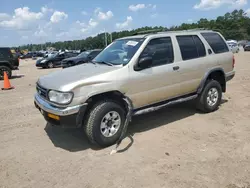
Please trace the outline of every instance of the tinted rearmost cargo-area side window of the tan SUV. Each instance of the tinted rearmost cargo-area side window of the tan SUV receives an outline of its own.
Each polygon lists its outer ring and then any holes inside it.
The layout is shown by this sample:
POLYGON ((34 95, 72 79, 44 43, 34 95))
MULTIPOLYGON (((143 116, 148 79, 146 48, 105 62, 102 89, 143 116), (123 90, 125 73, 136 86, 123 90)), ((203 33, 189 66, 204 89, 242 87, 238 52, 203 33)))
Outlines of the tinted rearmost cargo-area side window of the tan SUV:
POLYGON ((214 53, 219 54, 229 51, 227 44, 218 33, 201 33, 201 35, 211 46, 214 53))

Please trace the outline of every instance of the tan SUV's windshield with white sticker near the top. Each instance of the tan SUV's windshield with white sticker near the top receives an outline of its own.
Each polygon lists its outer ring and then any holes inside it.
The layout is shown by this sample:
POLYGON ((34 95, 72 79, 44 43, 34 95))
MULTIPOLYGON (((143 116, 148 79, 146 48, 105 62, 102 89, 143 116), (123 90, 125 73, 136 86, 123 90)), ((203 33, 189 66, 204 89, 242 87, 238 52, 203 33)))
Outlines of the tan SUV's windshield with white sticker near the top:
POLYGON ((129 63, 144 40, 144 38, 116 40, 100 52, 93 61, 100 63, 108 62, 113 65, 125 65, 129 63))

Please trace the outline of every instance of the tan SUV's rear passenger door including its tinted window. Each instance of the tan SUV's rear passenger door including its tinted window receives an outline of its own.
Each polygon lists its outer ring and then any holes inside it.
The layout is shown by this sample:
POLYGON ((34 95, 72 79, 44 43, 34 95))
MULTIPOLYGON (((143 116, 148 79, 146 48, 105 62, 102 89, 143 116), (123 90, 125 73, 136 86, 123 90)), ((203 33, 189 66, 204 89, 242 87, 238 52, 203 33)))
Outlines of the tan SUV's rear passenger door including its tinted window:
POLYGON ((181 96, 196 92, 209 67, 209 57, 199 35, 177 35, 176 42, 180 57, 174 67, 178 74, 178 95, 181 96))

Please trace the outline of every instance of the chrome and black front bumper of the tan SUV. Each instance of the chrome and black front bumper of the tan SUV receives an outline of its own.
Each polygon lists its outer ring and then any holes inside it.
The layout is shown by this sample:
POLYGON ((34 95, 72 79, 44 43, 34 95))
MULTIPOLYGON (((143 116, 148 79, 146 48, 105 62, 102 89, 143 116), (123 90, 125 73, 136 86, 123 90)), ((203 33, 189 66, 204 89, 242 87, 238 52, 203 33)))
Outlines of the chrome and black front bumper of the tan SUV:
POLYGON ((47 122, 61 127, 72 128, 82 126, 83 117, 87 108, 87 103, 59 108, 49 104, 38 94, 35 95, 34 104, 47 122), (52 117, 57 116, 59 119, 51 118, 51 115, 52 117))

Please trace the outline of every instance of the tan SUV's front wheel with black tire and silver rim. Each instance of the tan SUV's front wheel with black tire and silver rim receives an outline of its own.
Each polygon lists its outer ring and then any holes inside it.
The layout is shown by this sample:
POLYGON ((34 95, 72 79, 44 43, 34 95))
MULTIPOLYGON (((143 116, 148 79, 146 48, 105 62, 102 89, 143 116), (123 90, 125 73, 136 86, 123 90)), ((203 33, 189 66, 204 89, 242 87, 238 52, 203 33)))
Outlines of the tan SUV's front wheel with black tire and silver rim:
POLYGON ((115 144, 119 139, 124 127, 124 123, 125 110, 114 101, 104 100, 96 103, 91 108, 84 128, 85 133, 92 144, 98 145, 100 147, 108 147, 115 144), (105 123, 107 122, 107 118, 112 116, 116 117, 113 119, 117 120, 117 123, 114 123, 114 125, 111 125, 112 123, 105 123), (118 120, 119 118, 120 124, 118 120), (108 126, 111 126, 112 128, 108 128, 108 126), (104 135, 105 133, 107 133, 106 136, 104 135))

